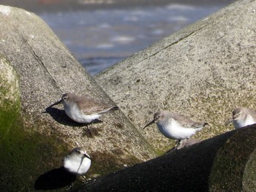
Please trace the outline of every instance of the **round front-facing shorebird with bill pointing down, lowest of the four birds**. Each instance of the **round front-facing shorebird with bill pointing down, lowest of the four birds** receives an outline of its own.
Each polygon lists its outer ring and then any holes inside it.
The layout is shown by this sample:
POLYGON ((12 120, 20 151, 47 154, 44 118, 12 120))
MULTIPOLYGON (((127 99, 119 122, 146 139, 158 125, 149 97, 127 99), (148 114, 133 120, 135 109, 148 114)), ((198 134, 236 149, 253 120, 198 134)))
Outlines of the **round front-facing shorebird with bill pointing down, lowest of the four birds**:
POLYGON ((75 147, 64 157, 64 169, 75 175, 83 175, 91 166, 91 157, 85 147, 75 147))

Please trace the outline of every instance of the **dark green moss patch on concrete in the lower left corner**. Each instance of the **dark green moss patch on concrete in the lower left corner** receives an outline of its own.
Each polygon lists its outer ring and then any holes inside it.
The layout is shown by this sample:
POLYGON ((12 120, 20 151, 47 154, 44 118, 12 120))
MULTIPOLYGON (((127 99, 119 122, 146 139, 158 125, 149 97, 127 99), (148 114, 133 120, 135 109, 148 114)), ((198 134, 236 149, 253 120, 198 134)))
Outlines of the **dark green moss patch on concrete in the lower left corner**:
MULTIPOLYGON (((2 131, 2 129, 1 129, 2 131)), ((61 166, 67 148, 54 136, 28 132, 17 118, 0 138, 0 188, 34 191, 37 178, 61 166), (58 165, 58 166, 56 166, 58 165)))

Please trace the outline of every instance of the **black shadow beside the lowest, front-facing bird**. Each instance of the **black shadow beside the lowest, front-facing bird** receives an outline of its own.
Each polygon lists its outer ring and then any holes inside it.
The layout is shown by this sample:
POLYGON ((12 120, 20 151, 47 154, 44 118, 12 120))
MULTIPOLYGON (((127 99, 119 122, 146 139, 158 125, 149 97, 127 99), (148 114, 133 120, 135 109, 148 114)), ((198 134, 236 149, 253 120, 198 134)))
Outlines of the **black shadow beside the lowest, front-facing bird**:
POLYGON ((56 190, 72 185, 76 175, 67 172, 64 166, 41 174, 34 183, 35 190, 56 190))

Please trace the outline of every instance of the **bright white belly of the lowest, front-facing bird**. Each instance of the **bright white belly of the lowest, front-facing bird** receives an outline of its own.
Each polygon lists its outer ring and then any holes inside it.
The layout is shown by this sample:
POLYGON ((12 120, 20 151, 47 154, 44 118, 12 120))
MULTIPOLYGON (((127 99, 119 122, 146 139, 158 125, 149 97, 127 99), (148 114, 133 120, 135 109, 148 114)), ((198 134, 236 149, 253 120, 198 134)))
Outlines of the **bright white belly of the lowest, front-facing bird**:
POLYGON ((91 166, 89 158, 65 158, 64 168, 72 174, 86 174, 91 166))

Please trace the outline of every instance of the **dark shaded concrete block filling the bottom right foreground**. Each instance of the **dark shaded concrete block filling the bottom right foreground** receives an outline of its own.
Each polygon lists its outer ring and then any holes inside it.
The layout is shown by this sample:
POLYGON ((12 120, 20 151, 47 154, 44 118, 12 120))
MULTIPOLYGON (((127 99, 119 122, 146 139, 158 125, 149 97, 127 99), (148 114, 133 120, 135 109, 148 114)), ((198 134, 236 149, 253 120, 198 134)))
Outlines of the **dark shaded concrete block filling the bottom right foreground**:
POLYGON ((255 191, 255 137, 255 125, 229 131, 102 177, 78 191, 255 191))

